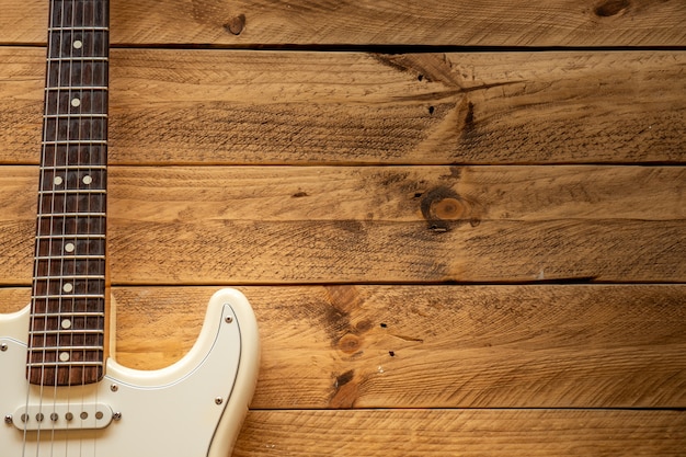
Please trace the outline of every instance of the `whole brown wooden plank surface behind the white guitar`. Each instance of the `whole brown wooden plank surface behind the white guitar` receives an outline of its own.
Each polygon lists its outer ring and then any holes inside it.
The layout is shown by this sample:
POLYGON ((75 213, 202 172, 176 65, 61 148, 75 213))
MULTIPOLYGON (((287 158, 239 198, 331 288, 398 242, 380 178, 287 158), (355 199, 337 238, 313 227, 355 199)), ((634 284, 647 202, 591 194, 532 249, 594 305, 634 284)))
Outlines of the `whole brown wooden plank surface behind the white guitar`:
MULTIPOLYGON (((0 0, 0 310, 44 0, 0 0)), ((117 358, 232 285, 235 456, 686 455, 684 0, 113 0, 117 358)))

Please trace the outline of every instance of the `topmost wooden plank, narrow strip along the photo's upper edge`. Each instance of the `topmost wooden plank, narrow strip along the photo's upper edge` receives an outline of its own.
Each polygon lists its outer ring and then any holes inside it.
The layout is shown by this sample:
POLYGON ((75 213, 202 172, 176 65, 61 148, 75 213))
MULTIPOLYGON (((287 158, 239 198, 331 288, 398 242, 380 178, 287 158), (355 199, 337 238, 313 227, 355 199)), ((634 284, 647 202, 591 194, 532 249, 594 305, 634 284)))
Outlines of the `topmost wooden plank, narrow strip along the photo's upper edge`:
MULTIPOLYGON (((43 43, 47 3, 4 0, 0 43, 43 43)), ((115 45, 684 46, 681 0, 121 0, 115 45)))

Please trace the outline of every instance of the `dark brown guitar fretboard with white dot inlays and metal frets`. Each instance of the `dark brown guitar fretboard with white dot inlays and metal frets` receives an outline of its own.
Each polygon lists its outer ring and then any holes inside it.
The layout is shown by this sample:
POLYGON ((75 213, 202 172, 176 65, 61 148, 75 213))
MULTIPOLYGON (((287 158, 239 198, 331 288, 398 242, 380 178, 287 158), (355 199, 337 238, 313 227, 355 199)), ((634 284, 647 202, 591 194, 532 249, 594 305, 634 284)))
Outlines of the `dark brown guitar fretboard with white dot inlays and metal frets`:
POLYGON ((108 1, 49 4, 27 378, 83 385, 104 373, 108 1))

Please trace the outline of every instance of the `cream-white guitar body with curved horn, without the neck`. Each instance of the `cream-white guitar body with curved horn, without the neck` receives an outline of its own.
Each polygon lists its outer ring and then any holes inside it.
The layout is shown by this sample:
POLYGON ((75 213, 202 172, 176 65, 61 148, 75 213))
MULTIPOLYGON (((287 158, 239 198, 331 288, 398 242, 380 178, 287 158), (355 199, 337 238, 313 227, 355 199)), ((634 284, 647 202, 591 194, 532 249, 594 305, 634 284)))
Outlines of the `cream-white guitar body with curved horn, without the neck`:
MULTIPOLYGON (((110 358, 104 379, 85 387, 30 386, 25 377, 28 309, 0 315, 0 454, 2 457, 227 457, 252 398, 259 366, 258 327, 245 297, 233 289, 210 299, 193 349, 167 368, 142 372, 110 358), (38 431, 18 429, 28 403, 38 431), (105 412, 104 429, 90 404, 105 412), (85 405, 85 407, 84 407, 85 405), (111 410, 106 410, 108 407, 111 410), (65 411, 73 411, 68 423, 65 411), (83 421, 79 412, 89 412, 83 421), (50 413, 64 431, 53 431, 50 413), (118 419, 121 414, 121 419, 118 419), (19 414, 21 416, 21 414, 19 414), (11 416, 11 418, 10 418, 11 416)), ((95 408, 95 407, 93 407, 95 408)), ((102 412, 102 411, 101 411, 102 412)), ((30 429, 30 427, 26 427, 30 429)))

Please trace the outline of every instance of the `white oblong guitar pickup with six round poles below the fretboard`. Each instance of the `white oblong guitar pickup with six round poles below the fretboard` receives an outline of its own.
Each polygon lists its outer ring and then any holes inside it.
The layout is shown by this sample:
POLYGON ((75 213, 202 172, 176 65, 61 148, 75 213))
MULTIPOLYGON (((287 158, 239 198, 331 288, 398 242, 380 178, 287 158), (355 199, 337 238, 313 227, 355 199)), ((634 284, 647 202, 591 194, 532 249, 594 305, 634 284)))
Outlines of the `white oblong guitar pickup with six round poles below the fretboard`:
POLYGON ((96 430, 110 425, 114 416, 112 408, 103 403, 30 404, 12 414, 12 423, 22 432, 96 430))

